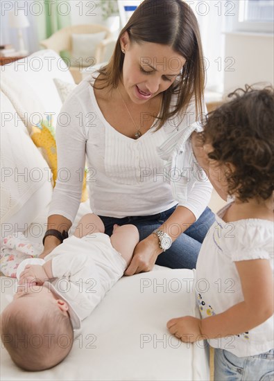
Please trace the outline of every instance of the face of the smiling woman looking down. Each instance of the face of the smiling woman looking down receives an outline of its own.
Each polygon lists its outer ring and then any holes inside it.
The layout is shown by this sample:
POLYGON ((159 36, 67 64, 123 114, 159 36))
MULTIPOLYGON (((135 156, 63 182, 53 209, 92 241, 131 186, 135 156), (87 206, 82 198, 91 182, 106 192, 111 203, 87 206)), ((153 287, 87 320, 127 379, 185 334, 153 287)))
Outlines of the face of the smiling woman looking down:
POLYGON ((144 103, 168 89, 186 62, 168 45, 130 42, 127 32, 120 43, 125 50, 123 85, 134 103, 144 103))

